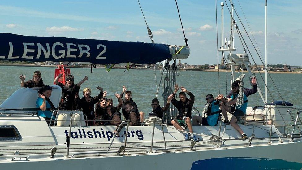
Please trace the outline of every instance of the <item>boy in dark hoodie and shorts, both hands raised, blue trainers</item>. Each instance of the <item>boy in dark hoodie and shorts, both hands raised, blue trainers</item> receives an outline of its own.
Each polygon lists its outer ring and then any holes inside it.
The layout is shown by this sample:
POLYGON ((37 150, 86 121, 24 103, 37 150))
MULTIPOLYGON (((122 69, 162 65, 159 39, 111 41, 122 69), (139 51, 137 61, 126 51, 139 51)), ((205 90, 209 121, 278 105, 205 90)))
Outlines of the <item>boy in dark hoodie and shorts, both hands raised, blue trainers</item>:
MULTIPOLYGON (((173 92, 173 99, 171 100, 171 103, 178 109, 178 116, 176 117, 176 120, 171 120, 171 124, 173 124, 173 126, 179 130, 184 130, 181 126, 187 124, 189 131, 193 133, 191 113, 195 97, 191 92, 189 92, 185 87, 182 86, 180 87, 180 100, 178 101, 174 98, 177 91, 179 90, 178 84, 175 84, 174 89, 175 90, 173 92), (187 98, 186 93, 190 96, 190 99, 187 98)), ((190 133, 185 133, 185 140, 188 141, 190 140, 190 138, 192 138, 194 141, 198 141, 195 135, 191 137, 190 133)))

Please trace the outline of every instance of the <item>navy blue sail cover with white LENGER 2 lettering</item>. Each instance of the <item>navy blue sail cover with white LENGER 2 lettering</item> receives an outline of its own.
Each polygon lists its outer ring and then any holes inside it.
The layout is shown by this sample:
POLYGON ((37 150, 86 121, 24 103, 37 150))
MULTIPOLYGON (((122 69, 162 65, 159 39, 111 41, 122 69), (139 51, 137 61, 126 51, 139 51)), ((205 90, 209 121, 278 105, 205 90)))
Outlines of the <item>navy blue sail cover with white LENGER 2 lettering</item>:
POLYGON ((0 33, 0 60, 92 64, 154 64, 171 59, 169 45, 144 42, 33 37, 0 33))

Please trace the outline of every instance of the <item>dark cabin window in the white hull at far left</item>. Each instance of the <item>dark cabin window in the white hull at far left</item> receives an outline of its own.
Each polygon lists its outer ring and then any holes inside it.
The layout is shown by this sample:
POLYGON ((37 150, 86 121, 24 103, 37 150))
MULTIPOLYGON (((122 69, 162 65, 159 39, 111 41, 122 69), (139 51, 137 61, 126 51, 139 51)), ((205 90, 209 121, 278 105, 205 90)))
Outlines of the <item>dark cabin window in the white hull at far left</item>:
POLYGON ((0 141, 20 140, 21 135, 18 129, 13 126, 0 126, 0 141))

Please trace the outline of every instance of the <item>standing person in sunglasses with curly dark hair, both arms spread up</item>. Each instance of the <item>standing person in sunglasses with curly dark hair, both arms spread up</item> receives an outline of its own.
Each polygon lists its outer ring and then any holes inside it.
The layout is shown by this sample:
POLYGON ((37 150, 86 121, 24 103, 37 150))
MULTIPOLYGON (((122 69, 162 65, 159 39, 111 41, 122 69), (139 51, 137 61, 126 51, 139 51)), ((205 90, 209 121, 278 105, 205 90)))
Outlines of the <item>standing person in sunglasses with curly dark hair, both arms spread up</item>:
POLYGON ((59 82, 59 79, 62 77, 62 74, 59 74, 55 79, 54 83, 62 88, 62 100, 60 102, 60 107, 62 109, 70 110, 74 107, 76 93, 80 90, 81 85, 88 80, 88 77, 85 76, 83 80, 79 81, 77 84, 74 84, 74 76, 67 75, 65 77, 66 83, 59 82))

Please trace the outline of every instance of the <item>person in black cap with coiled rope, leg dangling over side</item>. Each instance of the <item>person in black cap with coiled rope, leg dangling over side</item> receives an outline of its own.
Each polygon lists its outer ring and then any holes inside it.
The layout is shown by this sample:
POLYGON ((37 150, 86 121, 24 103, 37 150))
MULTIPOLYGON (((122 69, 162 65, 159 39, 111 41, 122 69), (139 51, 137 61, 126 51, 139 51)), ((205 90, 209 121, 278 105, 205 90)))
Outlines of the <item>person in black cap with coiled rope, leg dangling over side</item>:
POLYGON ((237 105, 237 99, 239 96, 239 85, 240 85, 240 80, 236 79, 231 87, 232 90, 230 93, 226 96, 227 97, 227 102, 222 102, 220 105, 220 109, 222 110, 222 114, 224 116, 224 119, 226 122, 228 122, 227 114, 226 112, 230 112, 232 114, 232 118, 230 120, 230 124, 236 129, 242 136, 243 139, 248 138, 247 135, 242 131, 238 123, 243 122, 243 117, 246 114, 246 107, 248 106, 248 96, 251 94, 255 94, 258 89, 257 89, 257 81, 256 77, 252 77, 251 83, 253 85, 252 89, 244 88, 243 89, 243 105, 237 105), (231 105, 231 110, 228 108, 227 105, 231 105), (232 106, 233 105, 233 106, 232 106))

